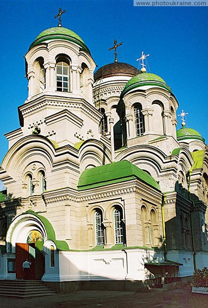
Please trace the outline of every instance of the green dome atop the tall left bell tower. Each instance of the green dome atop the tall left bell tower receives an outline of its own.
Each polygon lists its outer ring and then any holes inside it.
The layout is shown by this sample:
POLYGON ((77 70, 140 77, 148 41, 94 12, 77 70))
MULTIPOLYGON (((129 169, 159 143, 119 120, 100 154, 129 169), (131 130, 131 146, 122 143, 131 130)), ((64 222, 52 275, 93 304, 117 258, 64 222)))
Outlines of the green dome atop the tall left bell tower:
POLYGON ((54 27, 42 31, 39 35, 37 35, 34 42, 30 45, 29 50, 32 47, 40 45, 42 43, 46 43, 49 40, 64 40, 76 43, 90 54, 90 51, 85 45, 82 38, 77 33, 63 27, 54 27))

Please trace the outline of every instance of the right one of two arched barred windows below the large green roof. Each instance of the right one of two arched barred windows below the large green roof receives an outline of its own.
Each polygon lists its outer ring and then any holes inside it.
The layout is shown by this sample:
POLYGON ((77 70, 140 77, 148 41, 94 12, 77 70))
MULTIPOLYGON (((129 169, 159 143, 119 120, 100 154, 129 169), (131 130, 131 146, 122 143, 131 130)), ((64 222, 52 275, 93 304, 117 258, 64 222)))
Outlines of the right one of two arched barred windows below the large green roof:
POLYGON ((124 243, 124 223, 123 223, 123 211, 120 206, 117 206, 114 210, 114 224, 115 224, 115 243, 124 243))

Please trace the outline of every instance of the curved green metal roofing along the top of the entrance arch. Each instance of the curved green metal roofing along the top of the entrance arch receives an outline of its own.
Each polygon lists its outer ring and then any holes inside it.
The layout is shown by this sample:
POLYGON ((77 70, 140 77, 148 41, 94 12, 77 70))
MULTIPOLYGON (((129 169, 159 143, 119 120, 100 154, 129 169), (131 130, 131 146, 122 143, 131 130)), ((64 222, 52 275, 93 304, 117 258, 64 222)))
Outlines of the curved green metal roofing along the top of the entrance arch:
POLYGON ((46 217, 39 215, 38 213, 35 213, 31 209, 28 209, 26 211, 26 213, 33 214, 34 216, 36 216, 37 218, 39 218, 42 221, 42 223, 44 224, 44 226, 46 228, 47 239, 53 241, 58 250, 60 250, 60 251, 68 251, 69 250, 69 246, 68 246, 67 242, 55 239, 55 232, 54 232, 53 226, 46 217))

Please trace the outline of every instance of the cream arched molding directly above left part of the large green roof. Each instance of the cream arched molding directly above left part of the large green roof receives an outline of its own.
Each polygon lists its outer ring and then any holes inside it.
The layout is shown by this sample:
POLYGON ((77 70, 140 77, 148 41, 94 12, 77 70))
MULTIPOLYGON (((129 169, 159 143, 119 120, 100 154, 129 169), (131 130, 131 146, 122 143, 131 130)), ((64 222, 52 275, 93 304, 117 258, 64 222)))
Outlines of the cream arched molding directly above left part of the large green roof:
POLYGON ((88 165, 102 166, 111 162, 109 149, 96 139, 86 140, 80 147, 80 171, 88 165))

